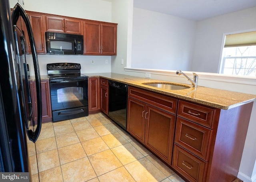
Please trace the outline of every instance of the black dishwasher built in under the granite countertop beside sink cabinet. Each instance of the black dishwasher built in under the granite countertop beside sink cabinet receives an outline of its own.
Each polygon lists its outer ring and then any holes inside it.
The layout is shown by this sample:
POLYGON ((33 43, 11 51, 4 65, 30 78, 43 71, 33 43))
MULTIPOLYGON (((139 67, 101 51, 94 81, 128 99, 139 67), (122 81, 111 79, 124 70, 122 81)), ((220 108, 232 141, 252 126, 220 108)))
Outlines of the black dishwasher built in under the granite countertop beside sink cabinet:
POLYGON ((126 130, 128 85, 108 80, 108 116, 126 130))

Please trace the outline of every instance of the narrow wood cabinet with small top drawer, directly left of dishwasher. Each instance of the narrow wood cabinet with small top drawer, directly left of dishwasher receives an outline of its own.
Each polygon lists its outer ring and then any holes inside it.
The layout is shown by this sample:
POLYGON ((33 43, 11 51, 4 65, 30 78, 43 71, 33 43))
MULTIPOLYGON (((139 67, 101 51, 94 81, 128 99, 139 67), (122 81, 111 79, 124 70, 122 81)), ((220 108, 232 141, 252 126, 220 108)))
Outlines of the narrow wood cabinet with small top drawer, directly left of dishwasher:
POLYGON ((108 80, 100 78, 100 110, 108 115, 108 80))

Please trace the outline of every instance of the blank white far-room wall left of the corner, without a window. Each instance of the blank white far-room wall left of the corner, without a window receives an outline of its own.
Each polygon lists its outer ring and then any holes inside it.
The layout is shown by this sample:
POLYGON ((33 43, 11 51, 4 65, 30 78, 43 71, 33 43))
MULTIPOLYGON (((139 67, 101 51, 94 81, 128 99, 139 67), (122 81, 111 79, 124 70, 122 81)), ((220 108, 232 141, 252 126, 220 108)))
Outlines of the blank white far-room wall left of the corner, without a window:
POLYGON ((195 31, 192 20, 134 8, 131 67, 191 70, 195 31))

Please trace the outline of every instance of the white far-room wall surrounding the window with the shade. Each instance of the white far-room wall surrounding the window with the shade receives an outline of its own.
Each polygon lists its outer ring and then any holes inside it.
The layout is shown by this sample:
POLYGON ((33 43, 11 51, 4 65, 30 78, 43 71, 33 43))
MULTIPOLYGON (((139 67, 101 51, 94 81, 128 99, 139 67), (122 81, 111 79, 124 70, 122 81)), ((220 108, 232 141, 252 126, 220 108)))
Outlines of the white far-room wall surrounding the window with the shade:
POLYGON ((197 22, 193 71, 218 72, 222 35, 256 28, 256 7, 197 22))

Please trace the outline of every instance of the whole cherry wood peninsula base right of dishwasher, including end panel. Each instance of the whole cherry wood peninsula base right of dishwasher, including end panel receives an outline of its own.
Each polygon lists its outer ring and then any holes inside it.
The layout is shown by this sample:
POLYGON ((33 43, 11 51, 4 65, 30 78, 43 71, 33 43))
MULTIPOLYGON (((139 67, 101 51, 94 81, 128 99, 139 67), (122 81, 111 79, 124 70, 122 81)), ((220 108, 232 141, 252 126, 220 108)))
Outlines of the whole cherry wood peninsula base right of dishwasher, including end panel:
POLYGON ((232 182, 252 105, 221 110, 129 86, 127 131, 188 182, 232 182))

